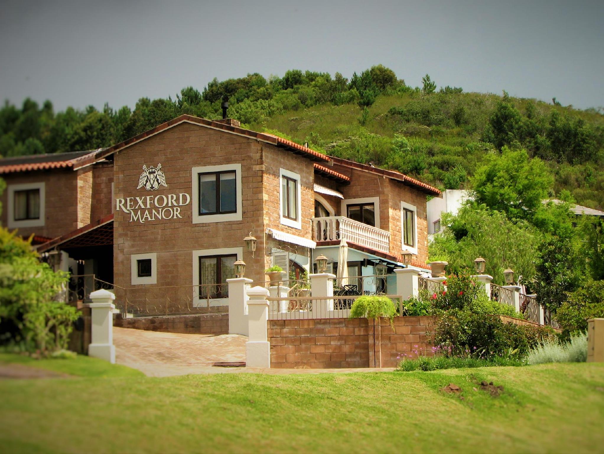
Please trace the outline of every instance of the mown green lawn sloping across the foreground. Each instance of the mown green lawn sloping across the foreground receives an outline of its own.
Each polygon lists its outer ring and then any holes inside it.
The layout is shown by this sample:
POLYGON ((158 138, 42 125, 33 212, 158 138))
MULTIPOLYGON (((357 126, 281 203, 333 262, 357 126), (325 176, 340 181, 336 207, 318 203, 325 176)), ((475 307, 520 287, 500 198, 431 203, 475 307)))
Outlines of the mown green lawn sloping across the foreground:
MULTIPOLYGON (((0 355, 2 362, 15 358, 0 355)), ((80 377, 0 380, 2 452, 507 453, 604 446, 602 364, 170 378, 92 358, 36 366, 80 377), (481 380, 503 385, 503 395, 481 391, 481 380), (441 391, 449 383, 461 387, 463 399, 441 391)))

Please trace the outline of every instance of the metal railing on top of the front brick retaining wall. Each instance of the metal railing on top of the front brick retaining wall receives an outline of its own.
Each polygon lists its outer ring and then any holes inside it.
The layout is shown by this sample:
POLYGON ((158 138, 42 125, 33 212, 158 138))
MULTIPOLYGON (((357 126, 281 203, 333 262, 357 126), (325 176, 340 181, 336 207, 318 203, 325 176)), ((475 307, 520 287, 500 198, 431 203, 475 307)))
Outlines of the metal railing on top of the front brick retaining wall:
MULTIPOLYGON (((268 297, 269 320, 342 319, 350 316, 350 308, 363 295, 333 296, 328 298, 268 297)), ((398 295, 384 295, 399 303, 398 295)))

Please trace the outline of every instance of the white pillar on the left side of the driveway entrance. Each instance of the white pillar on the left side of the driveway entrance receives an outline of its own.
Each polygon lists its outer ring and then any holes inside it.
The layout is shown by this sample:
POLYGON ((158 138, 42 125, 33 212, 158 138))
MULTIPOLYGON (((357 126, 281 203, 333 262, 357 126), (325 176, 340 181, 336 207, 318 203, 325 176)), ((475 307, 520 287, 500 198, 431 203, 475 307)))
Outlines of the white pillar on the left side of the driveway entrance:
POLYGON ((115 295, 107 290, 97 290, 90 294, 92 313, 92 343, 88 346, 88 356, 101 358, 115 364, 113 345, 113 300, 115 295))

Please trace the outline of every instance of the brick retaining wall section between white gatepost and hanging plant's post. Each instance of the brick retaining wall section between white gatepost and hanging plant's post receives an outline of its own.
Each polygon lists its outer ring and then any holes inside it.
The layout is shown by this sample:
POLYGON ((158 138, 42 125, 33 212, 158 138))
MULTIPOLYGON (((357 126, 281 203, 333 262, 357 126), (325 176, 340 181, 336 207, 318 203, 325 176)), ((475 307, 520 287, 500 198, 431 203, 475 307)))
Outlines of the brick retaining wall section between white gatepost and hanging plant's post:
POLYGON ((366 368, 367 319, 269 320, 271 368, 366 368))

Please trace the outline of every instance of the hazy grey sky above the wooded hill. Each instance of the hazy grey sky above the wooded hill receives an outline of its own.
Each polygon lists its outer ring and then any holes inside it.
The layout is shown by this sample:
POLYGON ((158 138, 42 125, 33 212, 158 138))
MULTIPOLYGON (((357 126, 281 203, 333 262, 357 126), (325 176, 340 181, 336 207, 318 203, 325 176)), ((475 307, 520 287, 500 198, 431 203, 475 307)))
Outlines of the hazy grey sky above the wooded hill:
POLYGON ((0 99, 133 107, 247 73, 350 77, 604 106, 604 1, 0 1, 0 99))

